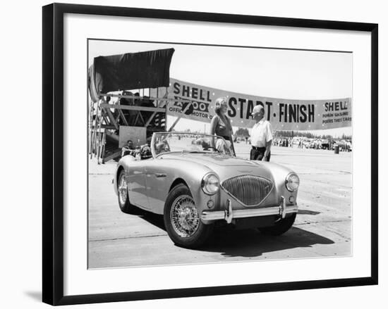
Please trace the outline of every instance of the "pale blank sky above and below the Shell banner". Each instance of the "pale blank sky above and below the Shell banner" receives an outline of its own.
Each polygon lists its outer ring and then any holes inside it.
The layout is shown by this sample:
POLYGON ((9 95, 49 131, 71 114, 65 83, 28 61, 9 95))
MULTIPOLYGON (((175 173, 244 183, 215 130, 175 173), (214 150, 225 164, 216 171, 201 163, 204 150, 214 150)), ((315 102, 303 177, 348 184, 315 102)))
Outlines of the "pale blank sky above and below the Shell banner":
MULTIPOLYGON (((97 56, 175 49, 170 77, 231 92, 279 99, 352 97, 352 54, 230 46, 89 41, 89 65, 97 56)), ((176 118, 168 116, 167 125, 176 118)), ((181 119, 175 130, 207 130, 208 124, 181 119)), ((351 135, 351 127, 315 130, 351 135)))

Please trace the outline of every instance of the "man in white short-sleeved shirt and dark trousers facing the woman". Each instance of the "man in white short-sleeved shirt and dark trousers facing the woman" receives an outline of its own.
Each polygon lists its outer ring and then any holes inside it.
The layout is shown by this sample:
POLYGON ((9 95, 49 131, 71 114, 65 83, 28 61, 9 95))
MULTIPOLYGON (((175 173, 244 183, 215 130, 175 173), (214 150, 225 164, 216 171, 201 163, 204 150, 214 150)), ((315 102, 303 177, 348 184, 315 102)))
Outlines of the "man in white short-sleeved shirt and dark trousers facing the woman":
POLYGON ((269 161, 271 158, 272 128, 269 121, 264 119, 264 107, 257 105, 253 108, 252 118, 256 121, 250 132, 250 160, 269 161))

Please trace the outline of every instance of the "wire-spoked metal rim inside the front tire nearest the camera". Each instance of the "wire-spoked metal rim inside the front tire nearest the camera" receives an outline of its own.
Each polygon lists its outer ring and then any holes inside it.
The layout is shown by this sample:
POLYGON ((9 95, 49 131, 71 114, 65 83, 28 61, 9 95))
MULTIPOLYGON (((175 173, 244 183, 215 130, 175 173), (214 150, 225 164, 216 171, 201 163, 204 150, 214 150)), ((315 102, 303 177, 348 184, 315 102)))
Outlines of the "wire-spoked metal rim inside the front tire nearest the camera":
POLYGON ((180 237, 191 237, 200 225, 200 216, 191 196, 178 196, 171 206, 172 227, 180 237))

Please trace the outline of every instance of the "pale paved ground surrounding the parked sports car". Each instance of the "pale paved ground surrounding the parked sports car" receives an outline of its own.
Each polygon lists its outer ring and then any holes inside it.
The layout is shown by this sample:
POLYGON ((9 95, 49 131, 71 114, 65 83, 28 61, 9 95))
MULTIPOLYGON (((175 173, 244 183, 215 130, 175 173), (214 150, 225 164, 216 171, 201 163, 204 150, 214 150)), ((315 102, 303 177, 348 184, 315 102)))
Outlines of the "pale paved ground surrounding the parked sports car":
MULTIPOLYGON (((247 158, 249 146, 237 144, 236 151, 247 158)), ((201 250, 174 246, 160 215, 121 213, 111 184, 115 165, 91 161, 89 267, 351 255, 351 153, 273 147, 271 160, 301 178, 295 225, 281 237, 220 228, 201 250)))

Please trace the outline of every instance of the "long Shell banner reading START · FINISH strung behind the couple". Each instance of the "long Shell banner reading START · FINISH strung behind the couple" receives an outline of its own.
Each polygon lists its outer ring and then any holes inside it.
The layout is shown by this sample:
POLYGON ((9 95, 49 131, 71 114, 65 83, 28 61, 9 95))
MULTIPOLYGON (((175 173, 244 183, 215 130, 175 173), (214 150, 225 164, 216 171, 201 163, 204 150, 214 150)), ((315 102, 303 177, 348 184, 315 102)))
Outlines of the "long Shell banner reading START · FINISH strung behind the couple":
POLYGON ((252 127, 250 117, 255 105, 265 108, 265 119, 273 130, 321 130, 351 126, 351 98, 325 100, 276 99, 238 94, 190 84, 170 78, 169 97, 177 99, 167 106, 167 115, 210 122, 215 115, 215 101, 228 101, 227 115, 235 127, 252 127), (187 102, 178 99, 189 100, 187 102))

